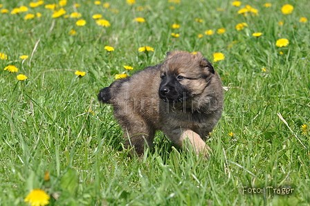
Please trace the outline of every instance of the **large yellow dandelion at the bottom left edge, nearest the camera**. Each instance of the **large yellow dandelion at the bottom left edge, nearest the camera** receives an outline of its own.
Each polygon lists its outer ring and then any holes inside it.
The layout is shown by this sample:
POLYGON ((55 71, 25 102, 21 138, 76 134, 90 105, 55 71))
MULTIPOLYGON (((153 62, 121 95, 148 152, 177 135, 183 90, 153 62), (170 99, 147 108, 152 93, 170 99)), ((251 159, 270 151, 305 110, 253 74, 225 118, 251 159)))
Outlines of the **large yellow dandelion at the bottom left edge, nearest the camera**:
POLYGON ((24 201, 31 206, 44 206, 49 204, 50 196, 42 189, 32 189, 24 201))

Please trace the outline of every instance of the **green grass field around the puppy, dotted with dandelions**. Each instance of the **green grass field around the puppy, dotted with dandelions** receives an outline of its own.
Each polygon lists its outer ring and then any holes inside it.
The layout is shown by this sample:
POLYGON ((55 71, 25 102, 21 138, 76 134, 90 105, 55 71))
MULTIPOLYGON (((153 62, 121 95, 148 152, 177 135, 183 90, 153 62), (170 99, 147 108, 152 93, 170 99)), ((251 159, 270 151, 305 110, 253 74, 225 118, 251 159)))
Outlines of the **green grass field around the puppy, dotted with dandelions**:
POLYGON ((32 189, 49 205, 310 205, 310 1, 170 1, 0 2, 0 205, 28 205, 32 189), (200 50, 229 87, 207 141, 214 153, 205 160, 158 132, 143 158, 129 159, 98 91, 171 50, 200 50))

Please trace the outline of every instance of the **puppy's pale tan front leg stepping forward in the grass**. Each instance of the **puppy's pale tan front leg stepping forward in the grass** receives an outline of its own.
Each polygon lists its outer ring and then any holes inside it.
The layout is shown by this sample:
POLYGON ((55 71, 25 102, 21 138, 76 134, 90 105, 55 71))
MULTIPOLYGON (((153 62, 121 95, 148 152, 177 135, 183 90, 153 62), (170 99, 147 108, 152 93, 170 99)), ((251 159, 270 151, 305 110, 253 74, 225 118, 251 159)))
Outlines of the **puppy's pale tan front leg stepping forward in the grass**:
POLYGON ((170 137, 170 140, 172 140, 172 142, 174 142, 175 144, 178 144, 182 147, 185 142, 188 142, 190 145, 192 145, 194 151, 197 154, 203 154, 207 158, 210 158, 210 152, 212 151, 212 149, 206 144, 206 142, 201 139, 199 134, 195 133, 190 129, 176 129, 172 131, 172 133, 170 133, 168 137, 170 137))

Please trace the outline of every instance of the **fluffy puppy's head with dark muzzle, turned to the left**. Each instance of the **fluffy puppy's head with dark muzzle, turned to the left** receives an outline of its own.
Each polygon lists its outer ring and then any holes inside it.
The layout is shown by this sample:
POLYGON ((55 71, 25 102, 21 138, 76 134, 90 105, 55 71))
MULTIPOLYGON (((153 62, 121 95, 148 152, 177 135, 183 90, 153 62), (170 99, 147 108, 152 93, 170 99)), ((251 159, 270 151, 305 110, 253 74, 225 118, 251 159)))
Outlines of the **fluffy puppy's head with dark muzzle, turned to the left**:
POLYGON ((169 102, 190 100, 203 93, 214 74, 214 68, 200 52, 195 55, 185 51, 167 53, 161 66, 159 97, 169 102))

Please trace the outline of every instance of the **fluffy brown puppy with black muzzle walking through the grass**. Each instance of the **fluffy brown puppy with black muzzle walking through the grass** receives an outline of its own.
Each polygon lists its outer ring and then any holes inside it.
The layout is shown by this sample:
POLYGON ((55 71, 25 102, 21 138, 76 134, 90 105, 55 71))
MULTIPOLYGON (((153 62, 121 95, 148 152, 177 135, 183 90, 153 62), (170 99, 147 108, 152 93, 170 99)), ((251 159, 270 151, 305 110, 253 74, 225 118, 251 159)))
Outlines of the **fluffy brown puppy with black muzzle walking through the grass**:
POLYGON ((203 140, 221 117, 224 92, 219 75, 200 52, 174 51, 163 64, 103 88, 98 100, 113 104, 125 144, 136 153, 143 153, 145 142, 151 147, 155 132, 163 131, 175 144, 188 139, 197 153, 209 156, 203 140))

